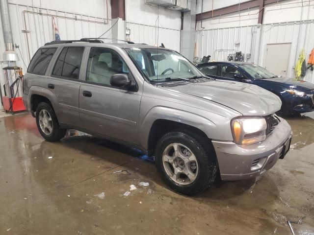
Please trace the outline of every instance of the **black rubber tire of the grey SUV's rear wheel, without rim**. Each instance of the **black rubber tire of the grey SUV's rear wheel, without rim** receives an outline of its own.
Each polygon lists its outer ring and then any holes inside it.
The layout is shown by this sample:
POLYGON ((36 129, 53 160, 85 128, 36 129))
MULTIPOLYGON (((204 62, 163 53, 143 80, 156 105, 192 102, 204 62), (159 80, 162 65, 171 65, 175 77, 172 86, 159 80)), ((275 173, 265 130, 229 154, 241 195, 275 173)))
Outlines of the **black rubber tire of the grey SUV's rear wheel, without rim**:
POLYGON ((36 109, 36 124, 37 124, 37 128, 40 132, 40 134, 42 135, 42 137, 46 140, 46 141, 50 141, 50 142, 55 142, 55 141, 59 141, 61 140, 67 130, 66 129, 61 129, 59 127, 59 123, 58 120, 55 116, 55 113, 52 109, 52 107, 46 103, 46 102, 41 102, 38 104, 37 109, 36 109), (47 111, 49 116, 51 117, 51 122, 52 122, 52 131, 50 134, 45 134, 44 131, 42 130, 40 123, 39 123, 39 115, 41 111, 47 111))

